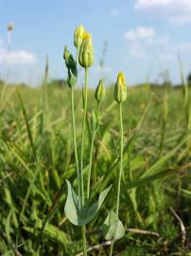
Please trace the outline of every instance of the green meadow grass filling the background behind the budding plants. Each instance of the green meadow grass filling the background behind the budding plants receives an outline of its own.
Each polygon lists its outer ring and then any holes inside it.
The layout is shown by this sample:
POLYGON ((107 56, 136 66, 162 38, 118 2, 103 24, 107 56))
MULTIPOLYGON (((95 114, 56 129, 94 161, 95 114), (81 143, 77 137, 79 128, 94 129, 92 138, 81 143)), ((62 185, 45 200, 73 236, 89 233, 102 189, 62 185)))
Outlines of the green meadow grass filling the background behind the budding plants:
MULTIPOLYGON (((190 99, 189 93, 186 97, 190 99)), ((75 90, 78 155, 83 114, 79 97, 81 91, 75 90)), ((89 98, 94 99, 94 91, 89 91, 89 98)), ((184 101, 181 88, 166 91, 146 85, 128 91, 123 106, 124 170, 119 212, 127 232, 115 242, 113 255, 189 255, 191 125, 184 101), (185 227, 184 245, 180 222, 170 207, 185 227), (157 235, 137 233, 135 229, 157 235)), ((89 102, 91 113, 96 101, 89 102)), ((97 195, 111 183, 113 189, 96 219, 87 226, 88 247, 99 245, 89 255, 109 255, 110 250, 101 246, 105 241, 97 227, 116 201, 120 148, 117 111, 113 86, 109 86, 100 107, 91 193, 97 195)), ((90 143, 90 137, 86 137, 86 177, 90 143)), ((43 88, 18 87, 16 92, 14 87, 1 85, 1 255, 77 255, 82 251, 81 230, 64 216, 66 178, 77 192, 75 168, 70 89, 51 86, 46 98, 43 88)))

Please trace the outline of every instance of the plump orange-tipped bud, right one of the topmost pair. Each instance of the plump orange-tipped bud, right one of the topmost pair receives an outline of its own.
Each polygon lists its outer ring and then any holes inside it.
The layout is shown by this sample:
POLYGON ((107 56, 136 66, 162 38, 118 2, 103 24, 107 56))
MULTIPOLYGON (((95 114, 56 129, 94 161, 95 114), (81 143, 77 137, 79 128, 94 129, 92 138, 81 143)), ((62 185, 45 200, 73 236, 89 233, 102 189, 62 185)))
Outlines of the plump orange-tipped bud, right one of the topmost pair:
POLYGON ((89 33, 83 33, 83 41, 80 46, 78 62, 84 68, 94 64, 94 47, 92 44, 92 37, 89 33))

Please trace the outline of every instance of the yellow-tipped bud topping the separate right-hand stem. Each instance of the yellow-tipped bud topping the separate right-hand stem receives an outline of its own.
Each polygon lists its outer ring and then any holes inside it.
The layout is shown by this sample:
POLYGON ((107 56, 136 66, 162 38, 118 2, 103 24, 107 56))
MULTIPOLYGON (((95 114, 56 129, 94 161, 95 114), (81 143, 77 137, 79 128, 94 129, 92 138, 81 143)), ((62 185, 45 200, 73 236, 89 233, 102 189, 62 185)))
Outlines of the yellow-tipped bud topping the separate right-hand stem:
POLYGON ((127 83, 125 74, 123 72, 118 73, 117 81, 114 86, 114 100, 118 103, 126 101, 127 99, 127 83))

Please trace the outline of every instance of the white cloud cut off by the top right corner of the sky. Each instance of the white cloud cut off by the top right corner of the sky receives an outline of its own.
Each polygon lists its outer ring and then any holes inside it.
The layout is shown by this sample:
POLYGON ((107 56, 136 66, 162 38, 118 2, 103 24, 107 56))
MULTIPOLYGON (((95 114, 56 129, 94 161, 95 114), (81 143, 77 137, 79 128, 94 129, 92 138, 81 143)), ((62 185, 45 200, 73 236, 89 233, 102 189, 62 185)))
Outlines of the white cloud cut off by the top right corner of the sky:
POLYGON ((190 0, 136 0, 134 8, 156 11, 157 15, 165 15, 170 22, 177 25, 191 23, 190 0))

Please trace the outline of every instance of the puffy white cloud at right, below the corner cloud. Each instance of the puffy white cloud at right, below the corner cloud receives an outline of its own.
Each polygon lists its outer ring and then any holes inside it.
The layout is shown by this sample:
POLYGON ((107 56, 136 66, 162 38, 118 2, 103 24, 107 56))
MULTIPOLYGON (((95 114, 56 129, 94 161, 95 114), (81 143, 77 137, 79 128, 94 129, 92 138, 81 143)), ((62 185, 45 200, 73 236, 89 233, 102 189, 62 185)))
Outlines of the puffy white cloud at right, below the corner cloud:
POLYGON ((167 35, 158 35, 153 27, 137 27, 124 33, 128 45, 128 54, 134 59, 157 57, 172 61, 177 54, 190 54, 191 43, 175 43, 167 35))

